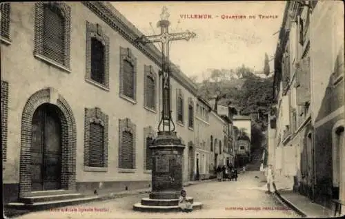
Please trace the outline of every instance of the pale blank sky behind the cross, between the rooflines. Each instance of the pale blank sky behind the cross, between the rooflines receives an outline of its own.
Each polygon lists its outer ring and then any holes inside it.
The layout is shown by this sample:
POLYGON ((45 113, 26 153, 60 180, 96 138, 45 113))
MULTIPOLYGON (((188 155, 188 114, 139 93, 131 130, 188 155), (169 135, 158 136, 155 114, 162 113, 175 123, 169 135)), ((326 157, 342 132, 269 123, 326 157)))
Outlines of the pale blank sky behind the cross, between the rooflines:
MULTIPOLYGON (((274 56, 286 1, 208 2, 112 2, 112 5, 146 35, 159 34, 161 8, 170 14, 169 32, 193 31, 190 41, 173 41, 170 59, 187 76, 202 79, 209 68, 235 68, 242 64, 255 71, 264 68, 264 54, 274 56), (183 19, 183 14, 211 14, 213 19, 183 19), (247 19, 221 19, 222 14, 246 15, 247 19), (259 14, 277 19, 259 19, 259 14), (256 19, 248 19, 256 15, 256 19), (218 16, 218 17, 216 17, 218 16), (150 23, 152 23, 152 27, 150 23), (273 35, 275 34, 275 35, 273 35)), ((155 43, 159 48, 159 43, 155 43)), ((270 61, 270 71, 273 61, 270 61)))

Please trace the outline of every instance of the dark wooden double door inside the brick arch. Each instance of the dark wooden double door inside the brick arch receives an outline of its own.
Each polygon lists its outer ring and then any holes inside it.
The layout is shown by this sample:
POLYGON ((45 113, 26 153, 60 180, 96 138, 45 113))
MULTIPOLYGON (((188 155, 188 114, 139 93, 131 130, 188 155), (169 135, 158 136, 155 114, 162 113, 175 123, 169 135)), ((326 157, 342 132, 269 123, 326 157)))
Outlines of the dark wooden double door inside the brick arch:
POLYGON ((32 118, 31 189, 61 189, 61 121, 55 105, 40 105, 32 118))

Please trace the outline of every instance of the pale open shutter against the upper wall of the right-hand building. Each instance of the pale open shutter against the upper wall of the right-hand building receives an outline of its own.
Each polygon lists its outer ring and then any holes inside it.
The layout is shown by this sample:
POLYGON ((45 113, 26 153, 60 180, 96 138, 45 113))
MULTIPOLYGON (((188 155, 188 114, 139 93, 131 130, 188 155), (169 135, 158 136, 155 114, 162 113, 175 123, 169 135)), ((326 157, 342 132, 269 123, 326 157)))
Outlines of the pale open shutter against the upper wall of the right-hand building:
POLYGON ((300 71, 297 72, 299 87, 297 87, 297 105, 304 105, 311 99, 311 74, 309 70, 310 58, 306 57, 302 59, 300 65, 300 71))

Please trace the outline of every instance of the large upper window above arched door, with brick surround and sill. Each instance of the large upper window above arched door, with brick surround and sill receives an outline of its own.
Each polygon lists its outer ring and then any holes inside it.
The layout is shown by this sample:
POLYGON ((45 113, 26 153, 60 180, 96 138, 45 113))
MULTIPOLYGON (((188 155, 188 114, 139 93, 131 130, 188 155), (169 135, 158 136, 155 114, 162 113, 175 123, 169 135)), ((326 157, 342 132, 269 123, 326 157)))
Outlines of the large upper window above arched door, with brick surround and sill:
POLYGON ((37 1, 34 14, 34 57, 70 72, 70 6, 37 1))

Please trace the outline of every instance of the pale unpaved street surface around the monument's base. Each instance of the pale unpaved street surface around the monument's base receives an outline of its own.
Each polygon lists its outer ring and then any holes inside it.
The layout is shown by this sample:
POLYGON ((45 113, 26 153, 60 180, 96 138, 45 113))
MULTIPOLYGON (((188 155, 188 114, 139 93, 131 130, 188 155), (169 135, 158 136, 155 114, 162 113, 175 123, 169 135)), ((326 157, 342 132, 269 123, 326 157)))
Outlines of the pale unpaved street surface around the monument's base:
POLYGON ((299 218, 274 195, 265 193, 260 174, 259 171, 246 171, 239 174, 237 182, 211 181, 186 187, 188 196, 203 203, 201 210, 191 213, 133 211, 133 204, 148 198, 148 194, 139 194, 37 211, 19 218, 299 218))

